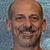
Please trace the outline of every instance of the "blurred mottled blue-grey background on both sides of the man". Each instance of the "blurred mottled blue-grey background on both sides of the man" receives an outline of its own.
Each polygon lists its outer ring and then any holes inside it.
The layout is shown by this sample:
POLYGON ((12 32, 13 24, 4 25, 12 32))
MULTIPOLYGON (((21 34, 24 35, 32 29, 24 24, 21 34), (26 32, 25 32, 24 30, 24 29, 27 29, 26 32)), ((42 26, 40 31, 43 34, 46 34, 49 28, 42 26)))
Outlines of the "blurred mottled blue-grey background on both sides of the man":
MULTIPOLYGON (((41 48, 50 50, 50 0, 37 0, 43 7, 44 17, 47 21, 46 31, 41 36, 41 48)), ((12 48, 12 33, 6 30, 5 22, 8 16, 8 8, 13 0, 0 0, 0 50, 12 48)))

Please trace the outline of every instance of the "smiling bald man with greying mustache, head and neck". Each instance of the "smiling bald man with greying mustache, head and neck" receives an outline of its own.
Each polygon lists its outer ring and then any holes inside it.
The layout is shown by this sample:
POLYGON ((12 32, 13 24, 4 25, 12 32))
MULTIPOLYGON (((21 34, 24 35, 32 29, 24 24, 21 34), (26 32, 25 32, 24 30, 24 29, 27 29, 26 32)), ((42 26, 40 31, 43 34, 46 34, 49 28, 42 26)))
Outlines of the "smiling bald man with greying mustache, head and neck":
POLYGON ((9 7, 6 27, 13 35, 12 50, 42 50, 40 37, 46 22, 35 0, 15 0, 9 7))

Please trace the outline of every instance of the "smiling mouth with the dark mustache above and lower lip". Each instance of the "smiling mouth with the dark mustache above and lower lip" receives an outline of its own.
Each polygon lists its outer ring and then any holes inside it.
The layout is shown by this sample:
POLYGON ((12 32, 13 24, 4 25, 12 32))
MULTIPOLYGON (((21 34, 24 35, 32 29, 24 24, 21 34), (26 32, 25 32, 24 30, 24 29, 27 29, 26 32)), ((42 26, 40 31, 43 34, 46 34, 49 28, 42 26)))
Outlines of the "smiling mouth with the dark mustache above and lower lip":
POLYGON ((34 33, 37 32, 37 29, 29 29, 29 28, 24 28, 24 29, 19 29, 19 34, 21 36, 22 39, 31 39, 34 35, 34 33))

